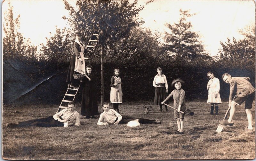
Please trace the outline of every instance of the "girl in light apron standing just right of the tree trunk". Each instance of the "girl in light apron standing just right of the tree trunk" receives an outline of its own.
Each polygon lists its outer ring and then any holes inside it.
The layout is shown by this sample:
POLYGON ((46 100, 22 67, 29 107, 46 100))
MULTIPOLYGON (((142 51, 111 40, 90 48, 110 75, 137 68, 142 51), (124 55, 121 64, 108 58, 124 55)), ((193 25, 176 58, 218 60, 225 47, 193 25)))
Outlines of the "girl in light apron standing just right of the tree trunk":
POLYGON ((119 108, 118 104, 123 103, 123 93, 122 93, 122 85, 121 83, 121 78, 119 77, 119 69, 114 70, 114 75, 111 78, 111 83, 110 83, 110 101, 113 103, 113 108, 116 110, 118 113, 119 108))

